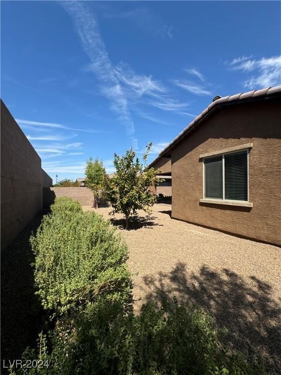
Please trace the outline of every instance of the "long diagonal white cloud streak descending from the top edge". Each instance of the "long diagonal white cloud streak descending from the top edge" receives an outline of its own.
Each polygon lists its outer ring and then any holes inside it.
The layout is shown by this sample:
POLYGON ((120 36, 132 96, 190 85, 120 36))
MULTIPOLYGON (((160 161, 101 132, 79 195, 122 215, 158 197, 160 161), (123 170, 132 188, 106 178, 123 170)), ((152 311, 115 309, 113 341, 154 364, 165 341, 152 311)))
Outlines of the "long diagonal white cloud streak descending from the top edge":
POLYGON ((111 100, 112 110, 119 115, 120 121, 126 125, 127 133, 132 135, 134 123, 127 99, 108 57, 95 15, 85 2, 63 1, 61 5, 75 22, 83 49, 91 61, 91 69, 102 84, 102 93, 111 100))

